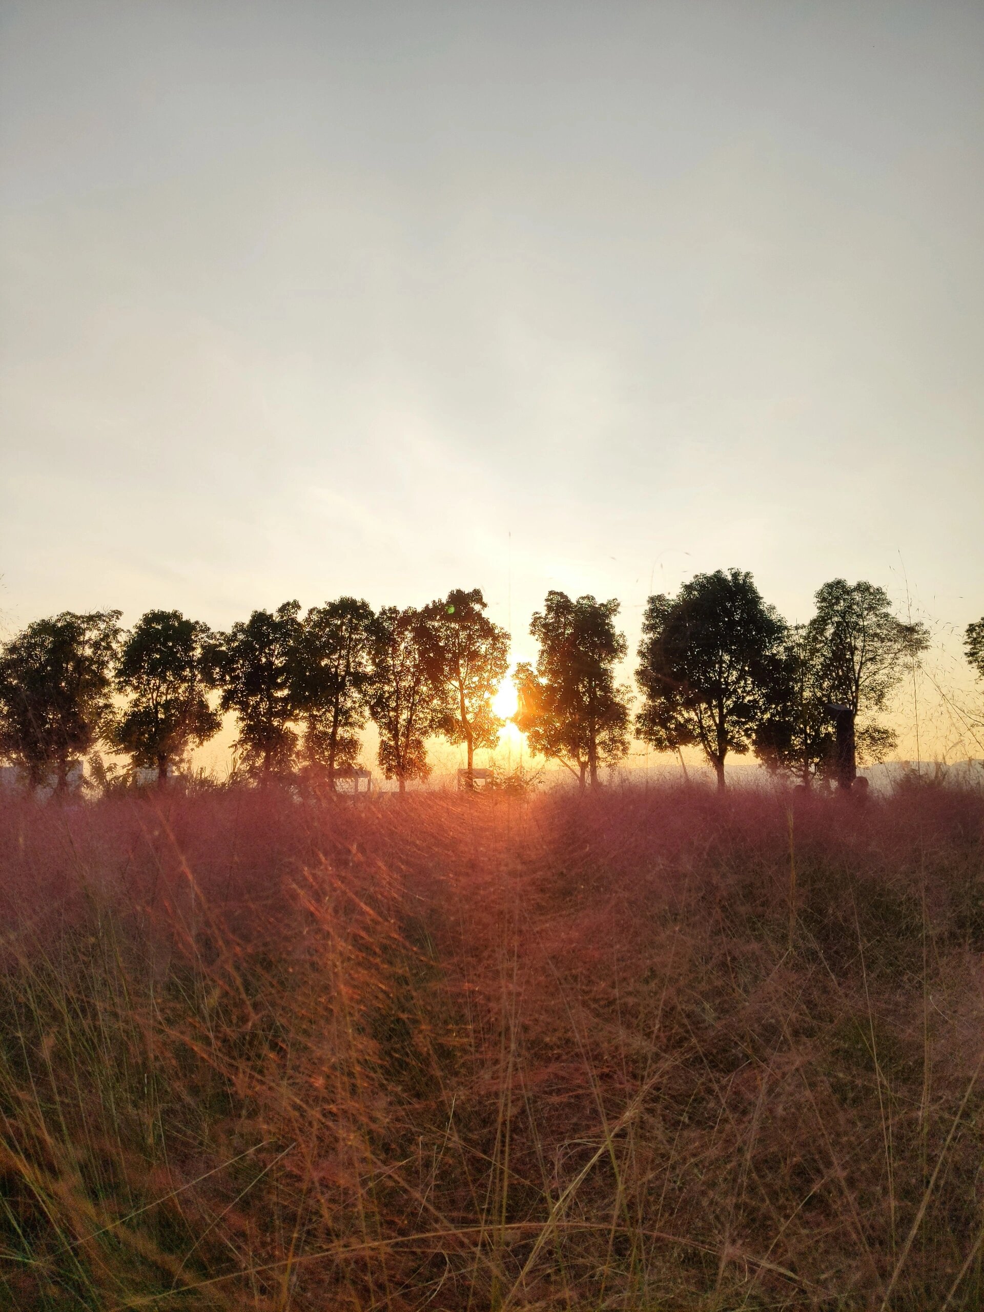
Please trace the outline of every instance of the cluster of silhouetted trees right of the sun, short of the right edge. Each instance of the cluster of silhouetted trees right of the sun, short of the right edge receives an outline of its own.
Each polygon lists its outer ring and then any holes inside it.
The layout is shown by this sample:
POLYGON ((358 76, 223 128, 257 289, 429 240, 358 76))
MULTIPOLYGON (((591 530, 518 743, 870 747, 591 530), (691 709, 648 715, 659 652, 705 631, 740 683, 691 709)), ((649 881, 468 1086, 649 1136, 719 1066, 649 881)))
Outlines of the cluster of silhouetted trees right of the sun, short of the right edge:
MULTIPOLYGON (((870 583, 834 579, 815 602, 810 623, 787 625, 740 569, 697 575, 676 597, 649 597, 635 674, 636 737, 660 752, 698 747, 719 787, 728 754, 749 750, 807 786, 837 773, 849 787, 858 754, 878 761, 893 748, 879 714, 928 635, 899 621, 887 593, 870 583), (841 736, 848 731, 846 760, 838 722, 841 736)), ((541 644, 537 665, 514 674, 517 724, 581 783, 594 783, 600 765, 628 750, 630 689, 614 674, 626 655, 617 611, 615 601, 551 592, 530 626, 541 644)))

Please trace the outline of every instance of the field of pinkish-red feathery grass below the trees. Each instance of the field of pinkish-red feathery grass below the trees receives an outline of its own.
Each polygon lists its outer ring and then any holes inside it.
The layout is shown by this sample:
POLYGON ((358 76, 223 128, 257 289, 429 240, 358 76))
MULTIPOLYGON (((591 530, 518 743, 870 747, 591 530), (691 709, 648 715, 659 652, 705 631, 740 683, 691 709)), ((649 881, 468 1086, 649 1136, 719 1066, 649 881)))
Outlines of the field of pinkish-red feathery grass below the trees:
POLYGON ((3 1307, 984 1303, 979 792, 0 833, 3 1307))

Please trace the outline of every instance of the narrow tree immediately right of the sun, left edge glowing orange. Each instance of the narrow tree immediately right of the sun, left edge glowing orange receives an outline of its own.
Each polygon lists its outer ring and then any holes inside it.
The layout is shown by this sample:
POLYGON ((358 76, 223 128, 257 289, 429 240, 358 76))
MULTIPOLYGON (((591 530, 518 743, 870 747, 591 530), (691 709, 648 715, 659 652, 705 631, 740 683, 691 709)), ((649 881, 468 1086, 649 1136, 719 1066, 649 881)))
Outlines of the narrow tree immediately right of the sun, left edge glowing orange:
POLYGON ((516 724, 530 748, 598 785, 598 766, 615 765, 628 750, 628 690, 615 684, 626 639, 615 628, 618 602, 592 596, 572 601, 548 592, 530 621, 539 643, 535 668, 517 665, 516 724))

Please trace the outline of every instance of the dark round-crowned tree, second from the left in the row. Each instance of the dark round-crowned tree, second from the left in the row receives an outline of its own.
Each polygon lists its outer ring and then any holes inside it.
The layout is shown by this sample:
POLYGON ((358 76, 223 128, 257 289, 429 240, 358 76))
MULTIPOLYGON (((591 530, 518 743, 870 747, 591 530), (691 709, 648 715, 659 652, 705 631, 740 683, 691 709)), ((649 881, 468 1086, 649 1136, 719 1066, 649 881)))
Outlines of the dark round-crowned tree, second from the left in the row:
POLYGON ((207 625, 180 610, 148 610, 123 640, 115 686, 129 702, 112 740, 135 766, 155 769, 160 787, 189 747, 222 727, 206 697, 203 651, 210 640, 207 625))

